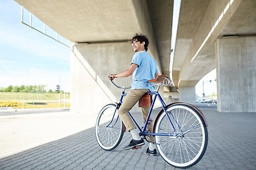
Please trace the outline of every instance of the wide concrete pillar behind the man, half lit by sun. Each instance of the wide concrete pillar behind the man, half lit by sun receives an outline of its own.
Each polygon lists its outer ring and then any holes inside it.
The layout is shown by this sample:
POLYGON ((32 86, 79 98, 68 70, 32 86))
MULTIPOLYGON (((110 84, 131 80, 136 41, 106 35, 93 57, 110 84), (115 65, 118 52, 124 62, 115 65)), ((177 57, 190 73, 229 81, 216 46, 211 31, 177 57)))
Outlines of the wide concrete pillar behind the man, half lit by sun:
MULTIPOLYGON (((128 69, 133 54, 130 42, 74 45, 70 61, 71 111, 99 113, 107 103, 119 101, 121 90, 111 84, 107 74, 128 69)), ((130 86, 132 77, 114 81, 130 86)))

